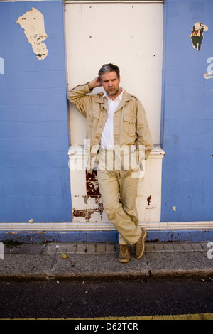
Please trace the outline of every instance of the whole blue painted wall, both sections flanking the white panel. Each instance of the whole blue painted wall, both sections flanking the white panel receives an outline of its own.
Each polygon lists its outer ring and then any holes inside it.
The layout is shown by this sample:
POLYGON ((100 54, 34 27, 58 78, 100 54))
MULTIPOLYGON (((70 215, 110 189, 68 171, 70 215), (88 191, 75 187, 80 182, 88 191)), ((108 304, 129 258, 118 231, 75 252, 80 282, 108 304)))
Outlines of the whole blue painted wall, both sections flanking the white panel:
MULTIPOLYGON (((213 2, 164 9, 161 220, 213 220, 213 2), (196 22, 209 27, 199 51, 196 22)), ((0 222, 72 220, 63 15, 62 1, 0 2, 0 222), (45 18, 44 60, 16 23, 32 7, 45 18)))

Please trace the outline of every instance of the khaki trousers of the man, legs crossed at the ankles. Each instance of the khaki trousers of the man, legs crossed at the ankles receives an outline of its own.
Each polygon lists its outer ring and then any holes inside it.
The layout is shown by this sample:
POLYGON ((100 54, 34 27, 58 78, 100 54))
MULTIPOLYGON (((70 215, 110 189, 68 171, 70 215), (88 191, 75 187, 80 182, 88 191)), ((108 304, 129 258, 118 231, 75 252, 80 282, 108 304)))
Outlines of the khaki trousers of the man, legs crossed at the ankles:
POLYGON ((119 244, 135 244, 141 236, 136 208, 138 178, 132 177, 132 173, 121 178, 115 167, 114 151, 107 151, 106 155, 102 149, 97 178, 104 210, 119 232, 119 244))

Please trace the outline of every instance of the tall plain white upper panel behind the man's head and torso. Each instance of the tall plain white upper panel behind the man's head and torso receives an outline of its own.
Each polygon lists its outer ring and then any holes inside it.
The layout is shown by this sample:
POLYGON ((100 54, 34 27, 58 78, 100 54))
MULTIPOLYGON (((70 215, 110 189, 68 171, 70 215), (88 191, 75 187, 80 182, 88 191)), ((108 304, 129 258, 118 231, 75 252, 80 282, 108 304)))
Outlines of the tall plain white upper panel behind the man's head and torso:
MULTIPOLYGON (((163 4, 66 4, 65 31, 68 89, 92 80, 104 63, 118 65, 121 87, 141 100, 159 144, 163 4)), ((70 105, 70 142, 83 145, 85 137, 84 117, 70 105)))

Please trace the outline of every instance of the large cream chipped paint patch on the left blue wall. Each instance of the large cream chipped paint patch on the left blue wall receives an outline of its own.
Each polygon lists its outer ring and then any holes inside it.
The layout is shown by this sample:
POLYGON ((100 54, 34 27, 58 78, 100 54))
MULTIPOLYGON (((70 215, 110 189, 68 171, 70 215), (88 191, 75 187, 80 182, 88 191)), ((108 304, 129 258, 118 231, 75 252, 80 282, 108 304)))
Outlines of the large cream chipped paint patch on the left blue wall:
POLYGON ((38 9, 32 8, 31 11, 27 11, 20 16, 16 23, 19 23, 21 28, 24 29, 26 38, 31 43, 33 52, 38 60, 43 60, 48 55, 48 49, 42 43, 48 37, 45 32, 43 14, 38 9))

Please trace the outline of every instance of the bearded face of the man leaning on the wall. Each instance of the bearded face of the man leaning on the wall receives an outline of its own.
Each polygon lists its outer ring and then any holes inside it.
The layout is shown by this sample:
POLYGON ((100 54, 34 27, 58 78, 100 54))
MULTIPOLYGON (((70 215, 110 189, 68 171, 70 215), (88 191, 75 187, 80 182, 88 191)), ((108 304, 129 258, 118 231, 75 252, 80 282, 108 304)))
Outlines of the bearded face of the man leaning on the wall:
POLYGON ((108 97, 115 99, 120 93, 120 79, 117 77, 116 72, 102 74, 101 80, 108 97))

